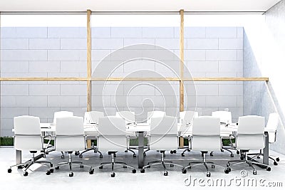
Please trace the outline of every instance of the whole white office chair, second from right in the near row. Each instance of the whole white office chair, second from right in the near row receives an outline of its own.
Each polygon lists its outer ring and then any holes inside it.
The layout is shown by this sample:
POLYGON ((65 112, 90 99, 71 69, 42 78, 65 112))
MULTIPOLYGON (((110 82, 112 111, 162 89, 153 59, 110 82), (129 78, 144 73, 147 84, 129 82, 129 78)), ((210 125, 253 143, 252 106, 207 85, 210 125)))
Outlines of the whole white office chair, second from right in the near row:
POLYGON ((193 132, 191 138, 191 150, 202 152, 202 161, 190 162, 187 167, 191 168, 197 165, 204 165, 207 169, 207 176, 211 176, 207 164, 211 164, 214 169, 213 162, 206 161, 206 154, 209 151, 219 151, 221 149, 221 137, 220 137, 220 127, 219 118, 212 116, 202 116, 194 118, 193 120, 193 132))

